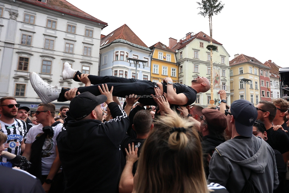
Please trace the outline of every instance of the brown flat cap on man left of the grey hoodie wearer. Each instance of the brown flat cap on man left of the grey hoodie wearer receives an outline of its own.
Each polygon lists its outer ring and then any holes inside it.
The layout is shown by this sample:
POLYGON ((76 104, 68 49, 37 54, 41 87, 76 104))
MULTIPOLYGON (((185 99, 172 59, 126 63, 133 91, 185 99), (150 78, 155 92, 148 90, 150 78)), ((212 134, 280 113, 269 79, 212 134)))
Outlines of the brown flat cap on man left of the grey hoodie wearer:
POLYGON ((224 113, 221 113, 215 109, 204 108, 202 110, 205 120, 210 124, 210 128, 214 129, 216 132, 223 132, 227 127, 227 117, 224 113))

